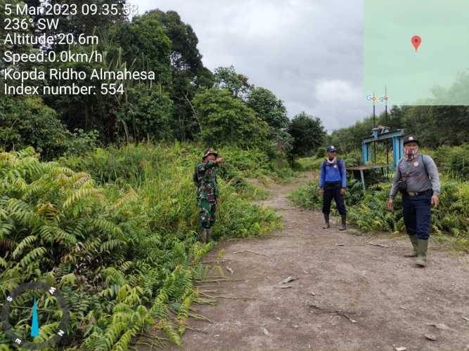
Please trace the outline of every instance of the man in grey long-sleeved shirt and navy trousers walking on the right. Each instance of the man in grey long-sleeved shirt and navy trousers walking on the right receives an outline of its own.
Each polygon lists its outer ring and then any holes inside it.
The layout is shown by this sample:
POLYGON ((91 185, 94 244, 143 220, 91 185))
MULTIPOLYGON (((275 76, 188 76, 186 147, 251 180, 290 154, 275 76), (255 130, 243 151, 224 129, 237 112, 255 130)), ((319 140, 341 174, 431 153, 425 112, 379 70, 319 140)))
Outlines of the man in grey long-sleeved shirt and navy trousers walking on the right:
POLYGON ((438 207, 441 184, 433 159, 418 152, 416 135, 404 138, 404 157, 397 164, 387 208, 391 211, 394 197, 402 194, 402 212, 413 251, 406 257, 417 257, 416 264, 427 265, 428 237, 430 236, 431 205, 438 207))

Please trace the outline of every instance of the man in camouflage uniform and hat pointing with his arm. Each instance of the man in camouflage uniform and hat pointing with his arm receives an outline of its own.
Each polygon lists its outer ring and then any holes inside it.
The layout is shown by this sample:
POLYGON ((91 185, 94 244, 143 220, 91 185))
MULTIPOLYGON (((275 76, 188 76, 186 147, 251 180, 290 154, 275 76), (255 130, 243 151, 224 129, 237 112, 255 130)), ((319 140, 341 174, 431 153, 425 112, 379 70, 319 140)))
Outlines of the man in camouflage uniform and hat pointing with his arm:
POLYGON ((212 225, 215 222, 217 211, 218 185, 215 166, 223 162, 210 147, 205 150, 203 163, 195 166, 193 180, 197 186, 197 205, 199 207, 199 226, 202 230, 201 237, 204 243, 212 240, 212 225))

